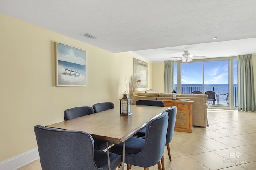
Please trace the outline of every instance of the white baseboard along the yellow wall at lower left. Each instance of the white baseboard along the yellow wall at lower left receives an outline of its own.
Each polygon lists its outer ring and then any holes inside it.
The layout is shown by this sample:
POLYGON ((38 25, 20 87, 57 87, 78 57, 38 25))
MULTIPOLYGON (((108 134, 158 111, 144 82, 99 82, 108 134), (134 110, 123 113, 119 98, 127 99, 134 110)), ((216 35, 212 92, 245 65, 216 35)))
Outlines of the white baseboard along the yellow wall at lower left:
POLYGON ((0 162, 0 170, 16 170, 39 159, 38 148, 0 162))

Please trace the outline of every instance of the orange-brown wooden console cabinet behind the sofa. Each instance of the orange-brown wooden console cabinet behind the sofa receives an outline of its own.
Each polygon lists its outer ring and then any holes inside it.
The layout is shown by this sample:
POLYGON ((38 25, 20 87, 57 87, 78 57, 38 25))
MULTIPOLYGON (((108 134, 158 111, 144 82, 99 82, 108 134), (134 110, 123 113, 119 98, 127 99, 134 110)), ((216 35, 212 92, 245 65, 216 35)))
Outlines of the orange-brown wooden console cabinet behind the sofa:
POLYGON ((192 133, 193 130, 193 102, 179 100, 162 100, 165 107, 177 107, 177 117, 174 131, 192 133))

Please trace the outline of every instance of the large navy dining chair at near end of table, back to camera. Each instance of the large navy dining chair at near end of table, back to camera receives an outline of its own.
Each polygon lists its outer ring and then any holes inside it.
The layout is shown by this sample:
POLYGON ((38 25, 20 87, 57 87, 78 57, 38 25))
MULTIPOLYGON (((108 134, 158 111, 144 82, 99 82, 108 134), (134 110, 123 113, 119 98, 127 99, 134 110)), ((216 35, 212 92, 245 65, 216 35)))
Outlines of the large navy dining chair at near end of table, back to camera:
MULTIPOLYGON (((92 136, 86 132, 34 127, 42 170, 108 170, 107 152, 94 150, 92 136)), ((121 156, 110 153, 114 170, 121 156)))

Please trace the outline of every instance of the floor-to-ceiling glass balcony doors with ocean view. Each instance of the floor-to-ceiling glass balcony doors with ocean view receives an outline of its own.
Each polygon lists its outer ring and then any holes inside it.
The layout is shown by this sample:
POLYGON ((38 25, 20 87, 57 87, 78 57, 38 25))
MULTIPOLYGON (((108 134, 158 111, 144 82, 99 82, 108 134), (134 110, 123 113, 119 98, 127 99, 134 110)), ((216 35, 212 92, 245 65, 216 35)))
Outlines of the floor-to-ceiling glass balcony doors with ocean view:
POLYGON ((223 57, 174 63, 174 83, 178 93, 206 93, 208 105, 237 107, 237 59, 223 57), (210 95, 212 95, 210 97, 210 95))

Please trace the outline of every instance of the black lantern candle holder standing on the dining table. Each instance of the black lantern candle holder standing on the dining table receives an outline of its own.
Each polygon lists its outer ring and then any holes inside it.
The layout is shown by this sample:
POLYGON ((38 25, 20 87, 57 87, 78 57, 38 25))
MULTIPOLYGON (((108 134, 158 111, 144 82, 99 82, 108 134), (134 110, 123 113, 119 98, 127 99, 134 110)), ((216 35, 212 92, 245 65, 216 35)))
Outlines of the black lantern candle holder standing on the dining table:
POLYGON ((124 91, 123 98, 120 99, 120 115, 132 115, 132 99, 124 91))

